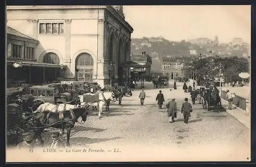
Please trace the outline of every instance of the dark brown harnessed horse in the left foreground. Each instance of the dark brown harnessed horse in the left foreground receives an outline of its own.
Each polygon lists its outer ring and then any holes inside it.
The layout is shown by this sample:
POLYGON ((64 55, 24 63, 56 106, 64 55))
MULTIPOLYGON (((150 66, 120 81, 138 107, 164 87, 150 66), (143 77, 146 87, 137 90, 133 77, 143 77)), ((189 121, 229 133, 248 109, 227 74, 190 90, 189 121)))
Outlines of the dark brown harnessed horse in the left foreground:
POLYGON ((70 147, 70 132, 78 122, 78 118, 81 116, 82 121, 86 122, 88 115, 88 107, 74 108, 63 112, 42 111, 36 115, 35 124, 36 127, 42 127, 35 130, 35 138, 38 138, 41 142, 41 146, 44 146, 44 140, 42 140, 41 133, 45 129, 44 127, 53 127, 58 129, 67 129, 67 146, 70 147))

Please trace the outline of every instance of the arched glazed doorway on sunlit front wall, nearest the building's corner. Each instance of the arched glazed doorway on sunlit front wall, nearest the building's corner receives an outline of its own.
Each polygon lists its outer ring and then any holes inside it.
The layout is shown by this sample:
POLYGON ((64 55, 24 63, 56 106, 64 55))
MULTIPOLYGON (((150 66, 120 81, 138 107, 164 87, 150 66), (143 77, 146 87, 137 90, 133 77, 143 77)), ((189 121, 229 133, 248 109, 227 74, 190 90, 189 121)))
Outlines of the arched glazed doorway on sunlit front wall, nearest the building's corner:
POLYGON ((76 79, 82 82, 93 81, 93 58, 88 53, 81 53, 75 63, 76 79))

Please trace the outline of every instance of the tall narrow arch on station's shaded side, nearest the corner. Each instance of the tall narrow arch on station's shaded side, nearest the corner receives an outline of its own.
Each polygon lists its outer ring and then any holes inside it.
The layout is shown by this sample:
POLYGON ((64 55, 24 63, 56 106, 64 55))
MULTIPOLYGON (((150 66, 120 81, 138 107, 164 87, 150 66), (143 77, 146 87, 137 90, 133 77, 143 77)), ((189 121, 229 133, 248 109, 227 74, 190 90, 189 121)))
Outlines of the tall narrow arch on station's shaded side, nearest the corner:
POLYGON ((114 34, 110 36, 110 46, 109 46, 109 77, 110 77, 110 85, 113 86, 115 83, 115 62, 113 57, 114 51, 114 34))

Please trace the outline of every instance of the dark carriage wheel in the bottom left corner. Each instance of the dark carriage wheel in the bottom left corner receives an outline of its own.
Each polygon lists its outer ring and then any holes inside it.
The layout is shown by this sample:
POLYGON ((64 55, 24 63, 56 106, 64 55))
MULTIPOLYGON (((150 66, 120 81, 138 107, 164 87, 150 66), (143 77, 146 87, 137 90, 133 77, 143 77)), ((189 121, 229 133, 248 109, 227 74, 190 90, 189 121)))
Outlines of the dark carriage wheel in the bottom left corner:
POLYGON ((19 127, 10 127, 7 132, 7 145, 17 146, 22 141, 24 130, 19 127))

